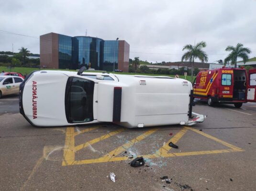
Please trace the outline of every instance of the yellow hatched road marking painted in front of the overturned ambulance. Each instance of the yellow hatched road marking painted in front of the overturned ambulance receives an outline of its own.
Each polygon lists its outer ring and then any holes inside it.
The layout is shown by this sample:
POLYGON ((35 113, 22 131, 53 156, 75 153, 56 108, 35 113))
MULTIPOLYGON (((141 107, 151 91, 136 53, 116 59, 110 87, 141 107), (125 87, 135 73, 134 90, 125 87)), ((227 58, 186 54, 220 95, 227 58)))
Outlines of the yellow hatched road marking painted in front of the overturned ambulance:
MULTIPOLYGON (((94 128, 88 128, 83 130, 84 132, 88 132, 94 128)), ((150 136, 151 134, 155 133, 158 130, 158 128, 154 128, 151 130, 146 131, 145 133, 141 134, 140 136, 126 142, 122 146, 113 149, 108 154, 98 158, 98 159, 85 159, 85 160, 75 160, 75 153, 76 151, 80 149, 84 149, 88 147, 91 144, 97 143, 101 140, 104 140, 106 138, 110 138, 113 135, 116 135, 118 133, 121 133, 124 131, 124 129, 119 129, 116 131, 112 131, 106 135, 103 135, 99 138, 92 139, 84 144, 78 145, 75 147, 75 136, 78 135, 76 132, 74 132, 74 127, 67 127, 66 131, 66 141, 65 141, 65 149, 64 149, 64 159, 62 162, 62 166, 67 165, 79 165, 79 164, 90 164, 90 163, 101 163, 101 162, 111 162, 111 161, 120 161, 120 160, 129 160, 127 157, 116 157, 120 153, 124 152, 125 150, 131 148, 135 143, 142 141, 146 137, 150 136)), ((234 145, 231 145, 219 138, 215 138, 209 134, 206 134, 204 132, 201 132, 197 129, 191 128, 191 127, 184 127, 181 129, 173 138, 170 138, 167 143, 161 147, 160 149, 156 150, 153 154, 146 154, 144 155, 145 159, 153 159, 153 158, 165 158, 165 157, 181 157, 181 156, 193 156, 193 155, 206 155, 206 154, 217 154, 217 153, 228 153, 228 152, 239 152, 244 151, 243 149, 240 149, 234 145), (168 146, 169 142, 173 142, 176 144, 180 138, 182 138, 185 133, 187 133, 188 130, 194 131, 206 138, 210 138, 213 141, 216 141, 229 149, 220 149, 220 150, 204 150, 204 151, 191 151, 191 152, 178 152, 178 153, 170 153, 171 147, 168 146)))

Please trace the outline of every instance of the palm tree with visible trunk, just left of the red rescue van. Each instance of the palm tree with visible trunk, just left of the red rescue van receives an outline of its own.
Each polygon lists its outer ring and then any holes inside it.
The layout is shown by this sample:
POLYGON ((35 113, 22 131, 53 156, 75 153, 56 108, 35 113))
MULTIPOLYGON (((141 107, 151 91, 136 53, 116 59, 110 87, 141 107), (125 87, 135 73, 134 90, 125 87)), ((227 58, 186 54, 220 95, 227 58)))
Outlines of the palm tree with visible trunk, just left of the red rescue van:
POLYGON ((183 47, 182 51, 188 50, 188 52, 184 53, 181 57, 181 62, 189 61, 191 63, 191 82, 193 82, 193 73, 194 73, 194 61, 195 59, 199 59, 201 62, 208 62, 207 54, 202 50, 202 48, 206 47, 206 42, 198 42, 196 45, 187 44, 183 47))

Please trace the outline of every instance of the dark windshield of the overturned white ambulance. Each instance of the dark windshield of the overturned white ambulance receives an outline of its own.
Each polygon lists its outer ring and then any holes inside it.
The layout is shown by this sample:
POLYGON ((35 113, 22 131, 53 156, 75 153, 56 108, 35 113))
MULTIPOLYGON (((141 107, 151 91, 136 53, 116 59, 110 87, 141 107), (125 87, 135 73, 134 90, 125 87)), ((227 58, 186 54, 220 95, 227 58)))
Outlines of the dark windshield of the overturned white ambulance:
POLYGON ((94 82, 78 77, 67 80, 65 108, 69 123, 93 121, 94 82))

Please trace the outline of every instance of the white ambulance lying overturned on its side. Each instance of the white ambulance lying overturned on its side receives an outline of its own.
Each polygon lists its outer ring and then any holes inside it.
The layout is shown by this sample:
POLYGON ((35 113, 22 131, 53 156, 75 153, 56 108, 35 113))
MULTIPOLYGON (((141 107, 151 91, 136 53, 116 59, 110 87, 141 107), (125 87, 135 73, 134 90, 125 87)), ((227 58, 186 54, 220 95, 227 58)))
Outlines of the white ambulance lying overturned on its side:
POLYGON ((113 122, 193 125, 192 85, 167 76, 34 71, 20 85, 20 113, 34 126, 113 122))

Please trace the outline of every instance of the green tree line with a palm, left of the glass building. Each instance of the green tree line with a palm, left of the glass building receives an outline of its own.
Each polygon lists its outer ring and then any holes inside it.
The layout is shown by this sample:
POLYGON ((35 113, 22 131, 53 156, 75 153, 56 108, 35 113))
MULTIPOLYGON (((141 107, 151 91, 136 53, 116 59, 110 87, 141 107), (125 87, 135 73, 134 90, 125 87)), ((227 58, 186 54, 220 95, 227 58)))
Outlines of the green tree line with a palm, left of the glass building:
POLYGON ((39 58, 28 58, 27 56, 39 56, 39 54, 30 53, 27 48, 22 47, 19 49, 19 53, 4 52, 0 54, 0 65, 2 66, 24 66, 24 67, 38 67, 40 65, 39 58), (8 55, 13 56, 8 56, 8 55))

